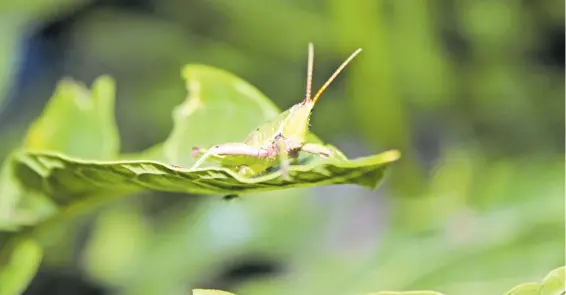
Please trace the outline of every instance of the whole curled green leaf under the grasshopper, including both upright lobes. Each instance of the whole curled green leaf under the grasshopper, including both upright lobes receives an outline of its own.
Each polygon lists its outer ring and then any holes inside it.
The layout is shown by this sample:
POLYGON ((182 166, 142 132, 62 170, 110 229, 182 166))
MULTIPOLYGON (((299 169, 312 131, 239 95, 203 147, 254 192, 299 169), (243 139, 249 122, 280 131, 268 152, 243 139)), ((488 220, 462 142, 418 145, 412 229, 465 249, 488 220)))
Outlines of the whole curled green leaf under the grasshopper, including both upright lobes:
MULTIPOLYGON (((228 72, 203 65, 188 65, 182 73, 189 96, 174 111, 175 128, 162 148, 157 145, 150 149, 151 154, 145 154, 159 158, 159 153, 162 153, 175 166, 141 159, 99 161, 105 157, 74 152, 74 147, 66 144, 75 142, 70 140, 73 135, 83 133, 80 131, 82 128, 70 122, 65 124, 61 118, 80 113, 84 108, 82 111, 86 113, 81 115, 95 118, 84 120, 90 122, 87 126, 90 132, 86 134, 91 133, 96 141, 109 141, 110 146, 117 146, 114 129, 110 128, 106 133, 103 131, 104 127, 114 125, 109 111, 113 109, 109 106, 113 104, 113 84, 111 80, 101 78, 94 85, 92 100, 85 100, 86 90, 80 85, 62 82, 44 115, 30 129, 26 149, 14 153, 15 176, 28 189, 43 192, 57 205, 64 206, 74 198, 107 191, 125 194, 150 189, 234 194, 328 184, 357 184, 373 189, 382 179, 388 164, 399 158, 397 151, 390 151, 346 160, 339 150, 331 147, 338 157, 332 160, 313 157, 314 161, 294 165, 290 169, 291 181, 283 181, 277 171, 246 178, 224 168, 193 171, 176 168, 176 165, 186 167, 194 161, 190 153, 193 146, 242 140, 257 125, 279 112, 259 90, 228 72), (44 133, 47 131, 57 135, 55 141, 60 143, 46 140, 44 133)), ((312 134, 309 140, 321 142, 312 134)))

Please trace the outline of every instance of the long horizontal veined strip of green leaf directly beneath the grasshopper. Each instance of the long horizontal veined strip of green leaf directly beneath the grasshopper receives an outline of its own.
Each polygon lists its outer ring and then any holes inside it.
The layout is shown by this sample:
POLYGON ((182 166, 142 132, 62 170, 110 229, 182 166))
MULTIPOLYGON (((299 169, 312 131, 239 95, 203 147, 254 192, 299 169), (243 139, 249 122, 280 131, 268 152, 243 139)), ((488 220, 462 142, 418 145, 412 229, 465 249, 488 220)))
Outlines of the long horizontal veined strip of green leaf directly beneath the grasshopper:
POLYGON ((94 162, 29 151, 17 154, 15 161, 18 178, 28 187, 44 191, 64 205, 78 196, 104 191, 242 194, 330 184, 357 184, 374 189, 385 168, 398 158, 398 152, 390 151, 351 161, 293 165, 289 169, 290 181, 284 181, 279 171, 248 178, 225 168, 188 170, 155 161, 94 162))

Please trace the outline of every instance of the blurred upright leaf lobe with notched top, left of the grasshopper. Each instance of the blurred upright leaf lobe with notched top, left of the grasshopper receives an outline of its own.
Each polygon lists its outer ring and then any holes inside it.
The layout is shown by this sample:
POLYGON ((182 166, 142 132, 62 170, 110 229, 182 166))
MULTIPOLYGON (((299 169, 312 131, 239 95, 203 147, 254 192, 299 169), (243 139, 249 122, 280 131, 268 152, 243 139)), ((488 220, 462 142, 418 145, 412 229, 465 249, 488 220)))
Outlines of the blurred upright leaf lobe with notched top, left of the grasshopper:
POLYGON ((92 91, 71 79, 61 81, 28 130, 25 147, 92 160, 114 158, 120 148, 114 97, 115 83, 108 76, 94 81, 92 91))

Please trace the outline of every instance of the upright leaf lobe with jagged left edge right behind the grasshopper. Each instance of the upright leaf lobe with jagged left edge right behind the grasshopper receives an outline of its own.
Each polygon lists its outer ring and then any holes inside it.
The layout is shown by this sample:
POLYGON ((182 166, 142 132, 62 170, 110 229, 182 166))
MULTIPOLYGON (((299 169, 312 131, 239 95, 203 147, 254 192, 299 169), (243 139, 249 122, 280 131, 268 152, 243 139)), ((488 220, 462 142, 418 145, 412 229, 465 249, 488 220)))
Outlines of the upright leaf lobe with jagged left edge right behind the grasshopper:
POLYGON ((194 146, 243 141, 259 124, 279 113, 259 90, 226 71, 187 65, 182 76, 188 96, 173 111, 173 131, 163 147, 168 161, 176 165, 194 163, 194 146))

